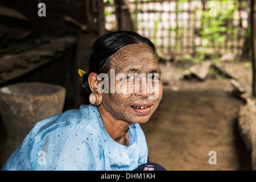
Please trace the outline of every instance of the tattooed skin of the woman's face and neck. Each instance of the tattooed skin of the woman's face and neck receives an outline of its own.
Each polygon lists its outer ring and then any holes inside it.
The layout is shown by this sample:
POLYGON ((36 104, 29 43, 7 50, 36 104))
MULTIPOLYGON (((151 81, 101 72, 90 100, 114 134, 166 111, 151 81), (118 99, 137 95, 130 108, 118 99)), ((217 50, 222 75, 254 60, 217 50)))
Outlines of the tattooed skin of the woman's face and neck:
MULTIPOLYGON (((123 88, 127 86, 127 92, 115 92, 110 90, 109 93, 102 93, 102 103, 98 106, 98 111, 101 115, 103 125, 108 131, 110 137, 116 142, 129 146, 129 134, 127 129, 133 123, 146 123, 151 115, 154 113, 162 98, 163 85, 160 78, 160 68, 158 59, 150 46, 147 44, 133 44, 123 47, 118 52, 114 53, 110 60, 110 72, 114 71, 115 76, 118 73, 125 73, 127 80, 117 79, 114 80, 115 88, 123 88), (135 82, 130 75, 133 73, 152 73, 151 83, 152 88, 142 85, 142 78, 135 82), (154 75, 155 73, 155 75, 154 75), (130 76, 130 77, 129 77, 130 76), (128 81, 133 83, 133 92, 128 92, 128 81), (139 92, 135 92, 135 90, 139 92), (143 89, 146 89, 143 91, 143 89), (147 109, 134 109, 134 107, 141 108, 147 106, 147 109)), ((112 73, 113 75, 113 73, 112 73)), ((89 77, 89 79, 92 77, 89 77)), ((147 77, 147 79, 150 79, 147 77)), ((98 82, 96 77, 92 78, 94 84, 91 84, 91 89, 96 88, 98 82)), ((109 79, 110 82, 111 78, 109 79)), ((113 89, 113 88, 112 88, 113 89)), ((92 90, 93 91, 93 90, 92 90)))

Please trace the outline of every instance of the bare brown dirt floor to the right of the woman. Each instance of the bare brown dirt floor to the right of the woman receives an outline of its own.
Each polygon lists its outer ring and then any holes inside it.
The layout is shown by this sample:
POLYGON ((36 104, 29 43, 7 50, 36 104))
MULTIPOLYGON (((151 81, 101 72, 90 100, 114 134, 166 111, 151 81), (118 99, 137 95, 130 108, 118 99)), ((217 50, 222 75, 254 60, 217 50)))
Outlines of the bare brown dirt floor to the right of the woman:
MULTIPOLYGON (((251 71, 244 63, 226 63, 238 82, 251 89, 251 71)), ((210 75, 205 81, 184 80, 189 65, 160 65, 162 101, 142 125, 149 160, 167 170, 251 170, 250 152, 238 132, 238 111, 244 103, 232 94, 230 79, 210 75), (210 165, 209 151, 217 164, 210 165)))

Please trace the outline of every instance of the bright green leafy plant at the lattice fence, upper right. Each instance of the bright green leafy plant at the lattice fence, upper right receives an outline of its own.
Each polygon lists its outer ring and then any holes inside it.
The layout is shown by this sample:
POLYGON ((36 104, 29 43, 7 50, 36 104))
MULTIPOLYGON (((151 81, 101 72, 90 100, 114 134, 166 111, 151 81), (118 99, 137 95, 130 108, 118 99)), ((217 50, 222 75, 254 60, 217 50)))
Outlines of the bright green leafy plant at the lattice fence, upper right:
MULTIPOLYGON (((233 26, 234 12, 239 8, 238 0, 208 1, 205 10, 197 10, 197 15, 202 17, 202 28, 199 31, 202 45, 197 48, 196 62, 201 62, 207 57, 215 62, 220 61, 217 45, 226 40, 238 38, 238 33, 243 30, 240 26, 233 26), (205 56, 205 49, 212 47, 212 55, 205 56), (199 50, 199 51, 198 51, 199 50)), ((249 29, 249 28, 248 28, 249 29)), ((250 36, 250 32, 247 32, 250 36)))

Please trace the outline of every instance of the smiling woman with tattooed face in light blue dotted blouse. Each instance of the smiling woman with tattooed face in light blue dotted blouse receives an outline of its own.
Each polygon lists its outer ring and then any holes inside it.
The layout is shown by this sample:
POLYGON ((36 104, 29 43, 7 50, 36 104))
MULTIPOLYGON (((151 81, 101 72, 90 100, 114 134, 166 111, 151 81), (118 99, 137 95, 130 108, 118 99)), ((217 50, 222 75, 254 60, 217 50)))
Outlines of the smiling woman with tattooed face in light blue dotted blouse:
POLYGON ((148 150, 139 126, 162 98, 154 45, 135 32, 112 32, 94 43, 85 61, 89 71, 79 74, 90 104, 36 123, 3 170, 155 168, 142 166, 148 150))

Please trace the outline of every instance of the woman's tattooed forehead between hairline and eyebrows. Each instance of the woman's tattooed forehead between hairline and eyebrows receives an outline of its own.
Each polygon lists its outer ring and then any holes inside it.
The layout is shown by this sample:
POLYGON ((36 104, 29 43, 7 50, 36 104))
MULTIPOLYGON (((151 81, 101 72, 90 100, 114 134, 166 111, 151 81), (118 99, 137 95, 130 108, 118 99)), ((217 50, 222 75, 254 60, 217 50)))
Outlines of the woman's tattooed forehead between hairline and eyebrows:
POLYGON ((133 44, 116 52, 111 60, 112 68, 125 71, 128 68, 158 67, 158 58, 147 44, 133 44))

